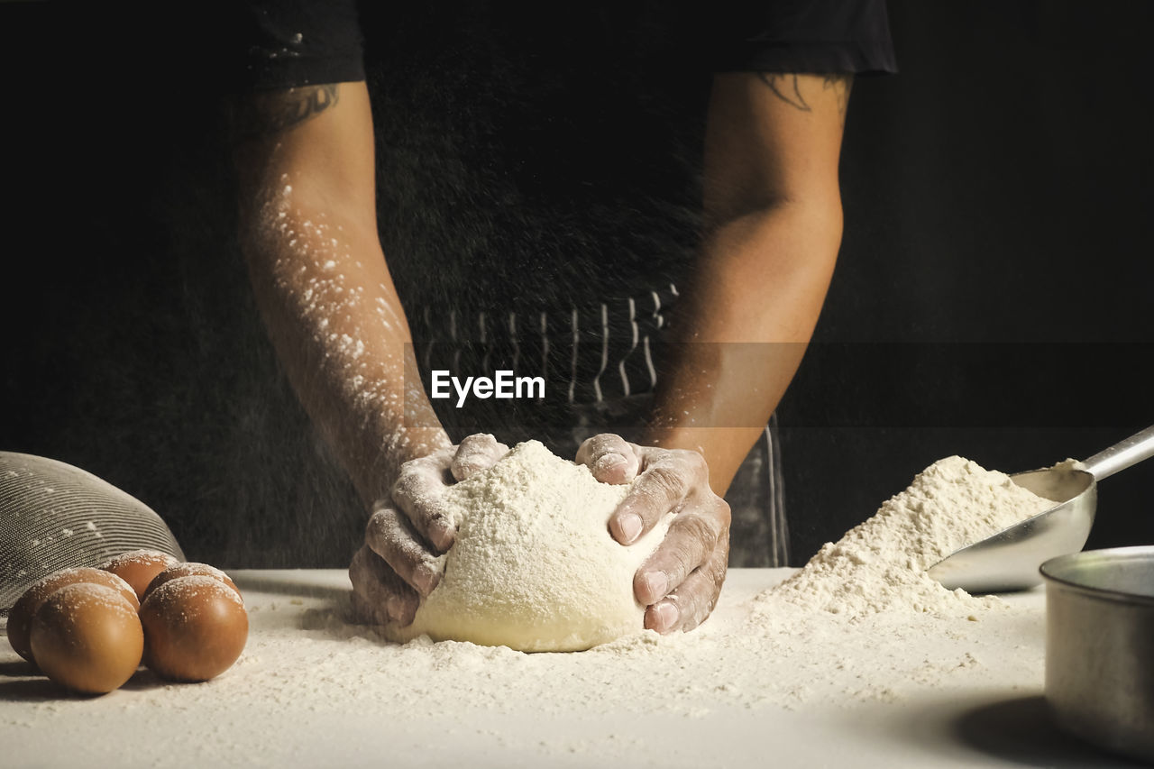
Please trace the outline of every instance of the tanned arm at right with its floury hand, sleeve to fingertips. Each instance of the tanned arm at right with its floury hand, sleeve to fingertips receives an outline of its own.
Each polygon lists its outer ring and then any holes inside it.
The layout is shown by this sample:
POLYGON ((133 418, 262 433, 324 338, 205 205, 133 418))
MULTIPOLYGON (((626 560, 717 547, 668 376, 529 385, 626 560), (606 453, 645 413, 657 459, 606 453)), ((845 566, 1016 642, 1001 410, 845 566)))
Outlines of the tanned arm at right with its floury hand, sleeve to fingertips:
POLYGON ((848 79, 733 74, 714 81, 705 147, 710 226, 643 443, 598 435, 578 460, 636 476, 609 521, 631 543, 677 515, 637 570, 645 627, 691 629, 717 604, 729 551, 720 498, 777 408, 817 322, 841 240, 838 156, 848 79))

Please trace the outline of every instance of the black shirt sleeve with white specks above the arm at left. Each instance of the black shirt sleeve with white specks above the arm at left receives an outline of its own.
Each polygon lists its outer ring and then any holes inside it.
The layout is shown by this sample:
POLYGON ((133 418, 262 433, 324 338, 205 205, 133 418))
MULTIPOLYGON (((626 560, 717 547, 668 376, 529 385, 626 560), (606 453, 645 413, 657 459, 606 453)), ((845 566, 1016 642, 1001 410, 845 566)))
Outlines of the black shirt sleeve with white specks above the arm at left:
POLYGON ((365 80, 355 0, 245 3, 234 46, 247 90, 365 80))

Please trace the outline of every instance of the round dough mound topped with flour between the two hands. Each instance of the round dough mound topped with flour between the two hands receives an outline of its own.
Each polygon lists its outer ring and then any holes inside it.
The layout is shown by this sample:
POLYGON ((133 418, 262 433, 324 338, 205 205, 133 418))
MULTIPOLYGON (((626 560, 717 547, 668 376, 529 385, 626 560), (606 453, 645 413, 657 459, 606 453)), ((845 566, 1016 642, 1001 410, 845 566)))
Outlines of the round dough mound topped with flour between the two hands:
POLYGON ((538 441, 519 443, 490 469, 450 486, 443 508, 457 524, 444 577, 394 641, 576 651, 643 629, 634 574, 665 537, 668 518, 630 546, 609 533, 629 491, 538 441))

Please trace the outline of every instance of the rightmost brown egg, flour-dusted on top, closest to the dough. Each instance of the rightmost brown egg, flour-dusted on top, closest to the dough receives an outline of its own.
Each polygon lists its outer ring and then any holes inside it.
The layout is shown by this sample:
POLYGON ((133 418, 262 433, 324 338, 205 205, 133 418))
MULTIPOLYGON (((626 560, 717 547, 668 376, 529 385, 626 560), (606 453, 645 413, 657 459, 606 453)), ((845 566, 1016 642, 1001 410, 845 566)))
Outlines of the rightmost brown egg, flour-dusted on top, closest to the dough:
POLYGON ((248 640, 240 593, 211 576, 177 577, 141 604, 144 664, 162 678, 207 681, 228 670, 248 640))

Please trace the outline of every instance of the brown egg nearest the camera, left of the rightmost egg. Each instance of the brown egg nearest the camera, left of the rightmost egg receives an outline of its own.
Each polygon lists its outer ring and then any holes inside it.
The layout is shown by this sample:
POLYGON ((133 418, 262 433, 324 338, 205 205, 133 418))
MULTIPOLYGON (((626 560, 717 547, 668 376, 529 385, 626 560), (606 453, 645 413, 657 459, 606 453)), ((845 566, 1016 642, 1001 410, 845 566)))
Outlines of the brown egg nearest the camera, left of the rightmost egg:
POLYGON ((48 596, 29 633, 40 670, 57 684, 105 694, 136 672, 144 633, 132 603, 102 584, 69 584, 48 596))

